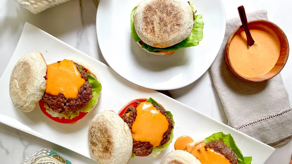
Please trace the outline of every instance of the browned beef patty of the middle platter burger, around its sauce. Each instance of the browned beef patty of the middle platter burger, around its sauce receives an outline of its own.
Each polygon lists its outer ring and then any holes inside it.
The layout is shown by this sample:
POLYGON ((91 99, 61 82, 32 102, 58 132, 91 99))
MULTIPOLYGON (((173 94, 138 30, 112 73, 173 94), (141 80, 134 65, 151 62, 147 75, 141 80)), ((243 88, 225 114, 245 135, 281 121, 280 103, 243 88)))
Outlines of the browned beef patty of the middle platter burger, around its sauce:
MULTIPOLYGON (((136 102, 137 105, 139 105, 141 102, 136 102)), ((170 140, 170 135, 171 135, 171 130, 173 129, 173 122, 171 118, 166 114, 166 111, 157 106, 154 105, 154 107, 160 111, 161 114, 163 114, 167 121, 168 121, 168 129, 167 131, 163 134, 163 138, 160 142, 160 145, 166 144, 170 140)), ((128 107, 126 112, 121 116, 121 118, 128 124, 130 130, 132 130, 132 125, 135 121, 135 118, 137 116, 137 111, 135 107, 128 107), (127 117, 126 114, 129 113, 129 116, 127 117)), ((139 156, 149 156, 152 153, 153 150, 153 145, 150 144, 150 142, 140 142, 140 141, 135 141, 133 139, 133 153, 139 156)))

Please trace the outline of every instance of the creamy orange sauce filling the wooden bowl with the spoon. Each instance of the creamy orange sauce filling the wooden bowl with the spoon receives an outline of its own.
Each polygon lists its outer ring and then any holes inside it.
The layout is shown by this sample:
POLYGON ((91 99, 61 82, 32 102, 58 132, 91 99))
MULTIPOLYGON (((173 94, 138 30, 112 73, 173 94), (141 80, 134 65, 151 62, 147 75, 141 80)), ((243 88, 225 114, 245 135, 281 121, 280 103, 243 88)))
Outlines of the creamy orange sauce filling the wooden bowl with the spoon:
POLYGON ((256 44, 248 48, 244 30, 231 40, 229 57, 231 65, 241 75, 259 77, 268 73, 280 56, 280 41, 276 33, 263 27, 251 26, 251 36, 256 44))

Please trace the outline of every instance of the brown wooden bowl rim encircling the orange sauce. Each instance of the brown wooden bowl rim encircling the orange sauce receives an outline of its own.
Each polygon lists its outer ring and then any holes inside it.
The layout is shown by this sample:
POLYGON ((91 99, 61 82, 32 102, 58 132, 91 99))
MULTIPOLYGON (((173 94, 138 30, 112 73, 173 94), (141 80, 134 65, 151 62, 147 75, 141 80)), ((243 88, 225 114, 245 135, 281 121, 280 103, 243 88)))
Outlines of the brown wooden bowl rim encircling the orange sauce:
MULTIPOLYGON (((231 62, 230 62, 230 58, 229 58, 229 47, 230 47, 230 43, 231 43, 231 40, 232 38, 234 37, 234 35, 239 31, 239 29, 243 28, 243 26, 239 26, 237 29, 235 29, 232 34, 229 36, 228 40, 227 40, 227 43, 226 43, 226 46, 225 46, 225 61, 227 63, 227 66, 229 67, 229 69, 232 71, 232 73, 234 73, 237 77, 243 79, 243 80, 246 80, 246 81, 251 81, 251 82, 263 82, 263 81, 267 81, 267 80, 270 80, 271 78, 277 76, 280 71, 284 68, 287 60, 288 60, 288 56, 289 56, 289 43, 288 43, 288 39, 287 39, 287 36, 286 34, 283 32, 283 30, 277 26, 276 24, 274 24, 273 22, 270 22, 270 21, 267 21, 267 20, 253 20, 253 21, 250 21, 248 22, 248 24, 250 23, 253 23, 253 22, 266 22, 266 23, 270 23, 272 24, 273 26, 275 26, 277 29, 279 29, 281 31, 281 34, 283 35, 283 38, 287 44, 287 53, 286 53, 286 56, 285 56, 285 60, 283 62, 283 64, 280 66, 279 70, 277 72, 275 72, 274 74, 272 74, 272 76, 269 76, 267 78, 263 78, 263 79, 251 79, 249 77, 245 77, 245 76, 242 76, 241 74, 239 74, 235 69, 234 67, 232 66, 231 62)), ((261 23, 259 23, 261 24, 261 23)), ((278 36, 279 37, 279 36, 278 36)), ((278 59, 279 60, 279 59, 278 59)), ((274 68, 274 67, 273 67, 274 68)), ((259 76, 260 77, 260 76, 259 76)))

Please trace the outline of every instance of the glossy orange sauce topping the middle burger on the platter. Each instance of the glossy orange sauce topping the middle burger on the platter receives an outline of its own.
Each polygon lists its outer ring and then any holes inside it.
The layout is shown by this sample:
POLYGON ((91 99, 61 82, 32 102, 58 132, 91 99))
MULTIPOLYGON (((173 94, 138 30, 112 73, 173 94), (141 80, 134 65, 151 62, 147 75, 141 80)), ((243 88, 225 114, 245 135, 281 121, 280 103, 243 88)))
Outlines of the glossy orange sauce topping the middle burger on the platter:
POLYGON ((132 125, 133 139, 140 142, 150 142, 153 147, 159 146, 163 134, 168 129, 166 117, 151 102, 142 102, 136 111, 137 116, 132 125))

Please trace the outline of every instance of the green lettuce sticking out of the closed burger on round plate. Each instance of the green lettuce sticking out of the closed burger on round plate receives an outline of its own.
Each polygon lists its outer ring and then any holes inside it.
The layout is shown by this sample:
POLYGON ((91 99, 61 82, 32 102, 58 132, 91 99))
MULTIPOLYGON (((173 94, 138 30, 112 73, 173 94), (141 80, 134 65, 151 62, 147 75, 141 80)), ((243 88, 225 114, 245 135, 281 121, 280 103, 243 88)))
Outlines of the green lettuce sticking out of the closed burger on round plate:
MULTIPOLYGON (((192 10, 194 11, 193 3, 190 2, 190 6, 192 10)), ((134 13, 137 7, 135 7, 131 13, 131 33, 134 38, 134 40, 141 41, 139 38, 135 26, 134 26, 134 13)), ((197 11, 194 11, 194 14, 197 13, 197 11)), ((192 47, 192 46, 197 46, 199 44, 199 41, 203 39, 203 28, 204 28, 204 20, 202 15, 194 15, 195 21, 194 21, 194 27, 192 29, 191 34, 187 37, 187 39, 183 40, 180 43, 177 43, 173 46, 166 47, 166 48, 156 48, 149 46, 147 44, 143 44, 142 48, 145 48, 146 50, 149 50, 150 52, 155 52, 155 51, 175 51, 180 48, 187 48, 187 47, 192 47)))

